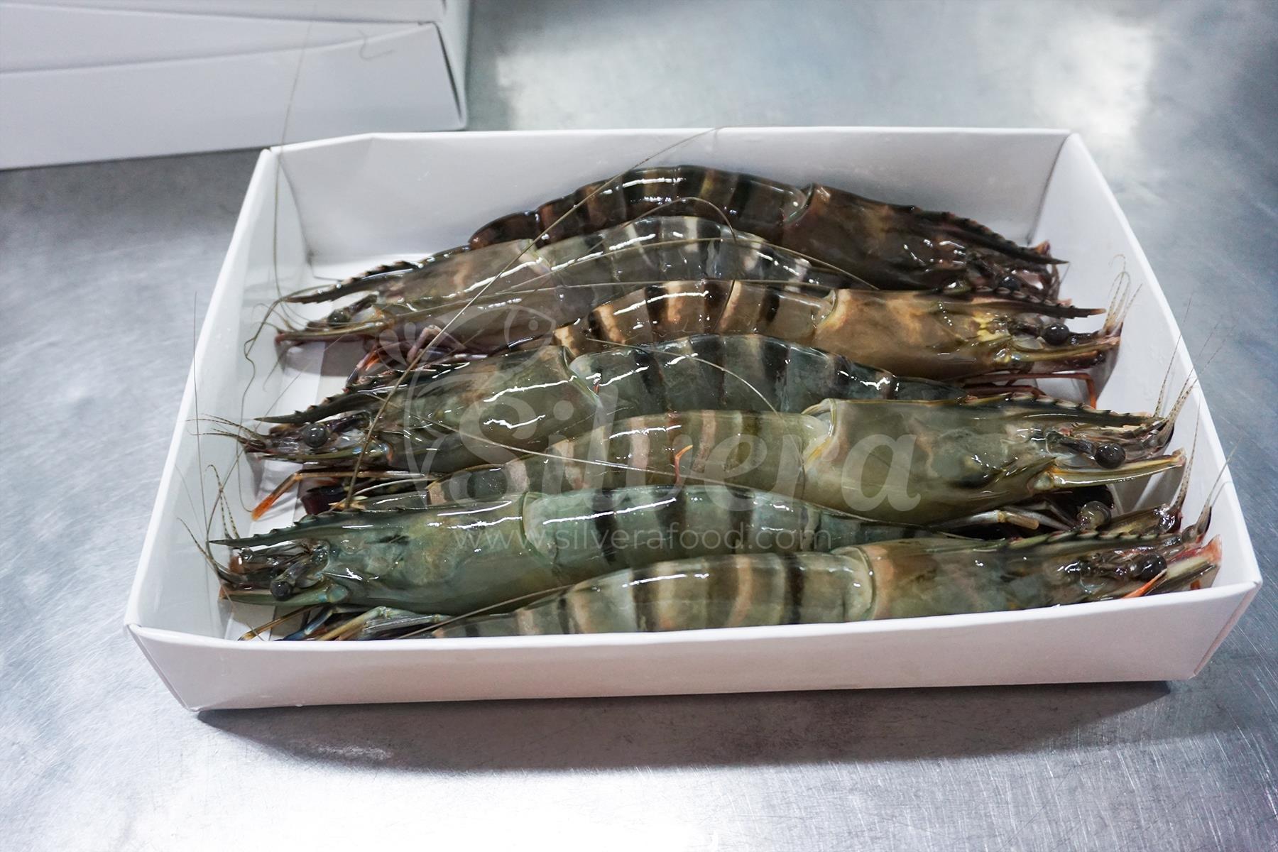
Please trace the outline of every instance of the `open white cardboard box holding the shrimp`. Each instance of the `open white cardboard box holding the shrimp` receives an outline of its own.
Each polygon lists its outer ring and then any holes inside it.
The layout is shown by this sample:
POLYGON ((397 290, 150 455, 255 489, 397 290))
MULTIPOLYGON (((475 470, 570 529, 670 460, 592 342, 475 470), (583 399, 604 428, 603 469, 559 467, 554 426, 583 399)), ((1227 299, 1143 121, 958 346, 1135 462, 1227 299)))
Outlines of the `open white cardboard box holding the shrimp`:
MULTIPOLYGON (((234 466, 233 441, 197 439, 197 409, 243 420, 272 406, 311 402, 340 381, 320 381, 305 369, 313 353, 295 355, 282 370, 268 369, 268 333, 250 349, 250 364, 242 347, 262 317, 262 303, 321 276, 460 244, 500 213, 653 155, 656 164, 820 181, 952 209, 1022 241, 1051 238, 1053 254, 1072 262, 1063 295, 1077 304, 1108 304, 1125 262, 1144 287, 1100 404, 1150 410, 1169 363, 1171 387, 1190 374, 1145 255, 1082 141, 1063 130, 378 134, 263 151, 196 350, 125 616, 128 631, 179 701, 203 709, 1177 680, 1208 662, 1260 585, 1227 474, 1212 522, 1212 534, 1223 542, 1223 567, 1213 588, 1196 591, 1016 613, 647 635, 312 644, 227 639, 270 611, 245 616, 219 602, 217 581, 183 522, 203 529, 217 487, 201 475, 208 465, 227 476, 242 530, 249 526, 245 506, 257 501, 263 484, 261 471, 234 466)), ((1173 446, 1189 447, 1195 424, 1190 516, 1224 466, 1197 390, 1181 414, 1173 446)), ((1174 483, 1163 483, 1163 493, 1168 484, 1174 483)), ((285 521, 276 513, 259 528, 285 521)))

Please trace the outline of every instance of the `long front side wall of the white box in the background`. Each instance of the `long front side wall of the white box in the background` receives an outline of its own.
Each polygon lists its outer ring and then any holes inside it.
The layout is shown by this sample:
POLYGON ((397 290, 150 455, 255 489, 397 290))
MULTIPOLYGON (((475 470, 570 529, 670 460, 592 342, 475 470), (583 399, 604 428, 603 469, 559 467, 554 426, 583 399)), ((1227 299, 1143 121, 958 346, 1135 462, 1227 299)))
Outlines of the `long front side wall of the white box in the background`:
POLYGON ((340 27, 305 49, 0 73, 0 115, 24 129, 0 134, 0 167, 461 126, 435 24, 340 27))

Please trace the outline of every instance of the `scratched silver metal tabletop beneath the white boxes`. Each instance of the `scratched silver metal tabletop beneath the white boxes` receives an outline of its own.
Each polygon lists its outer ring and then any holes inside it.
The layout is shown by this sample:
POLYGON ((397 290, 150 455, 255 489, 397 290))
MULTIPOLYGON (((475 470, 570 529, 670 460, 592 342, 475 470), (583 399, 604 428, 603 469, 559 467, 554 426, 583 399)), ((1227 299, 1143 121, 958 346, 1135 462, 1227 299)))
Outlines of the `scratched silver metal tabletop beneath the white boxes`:
MULTIPOLYGON (((475 128, 1081 130, 1273 575, 1274 5, 481 3, 470 74, 475 128)), ((5 848, 1278 844, 1270 589, 1185 683, 180 709, 119 621, 253 158, 0 174, 5 848)))

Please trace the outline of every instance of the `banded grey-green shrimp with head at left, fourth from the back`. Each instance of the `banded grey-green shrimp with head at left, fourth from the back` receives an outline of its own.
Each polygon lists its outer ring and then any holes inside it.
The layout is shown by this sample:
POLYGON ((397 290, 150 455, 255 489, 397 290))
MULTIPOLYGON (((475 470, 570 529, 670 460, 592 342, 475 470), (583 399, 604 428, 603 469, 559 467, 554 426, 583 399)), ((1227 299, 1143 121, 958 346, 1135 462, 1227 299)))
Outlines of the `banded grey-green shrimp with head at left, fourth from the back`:
MULTIPOLYGON (((720 406, 803 411, 826 399, 958 399, 962 388, 901 378, 758 335, 694 335, 599 350, 544 346, 436 367, 397 386, 362 386, 238 430, 252 453, 326 470, 446 474, 544 450, 619 418, 720 406), (381 411, 381 416, 377 413, 381 411), (374 423, 376 420, 376 423, 374 423)), ((311 476, 312 479, 314 476, 311 476)), ((295 480, 285 480, 290 488, 295 480)), ((257 510, 261 515, 276 494, 257 510)))

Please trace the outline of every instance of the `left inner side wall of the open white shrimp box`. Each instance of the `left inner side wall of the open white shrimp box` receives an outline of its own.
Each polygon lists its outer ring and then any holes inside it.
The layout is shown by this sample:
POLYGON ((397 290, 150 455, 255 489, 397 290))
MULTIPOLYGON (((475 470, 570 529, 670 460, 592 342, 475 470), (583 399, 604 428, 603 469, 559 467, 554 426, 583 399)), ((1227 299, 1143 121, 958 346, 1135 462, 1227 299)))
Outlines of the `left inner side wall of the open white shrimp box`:
POLYGON ((244 520, 256 483, 239 445, 211 433, 221 427, 215 418, 244 422, 268 410, 288 386, 288 364, 272 369, 270 330, 257 335, 261 305, 281 289, 295 289, 307 259, 277 162, 268 151, 258 160, 196 345, 129 607, 130 620, 151 627, 222 635, 226 613, 217 603, 217 581, 194 538, 206 538, 206 530, 208 538, 225 534, 227 516, 244 520))

